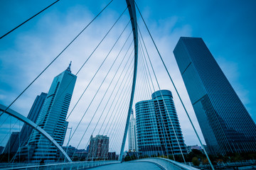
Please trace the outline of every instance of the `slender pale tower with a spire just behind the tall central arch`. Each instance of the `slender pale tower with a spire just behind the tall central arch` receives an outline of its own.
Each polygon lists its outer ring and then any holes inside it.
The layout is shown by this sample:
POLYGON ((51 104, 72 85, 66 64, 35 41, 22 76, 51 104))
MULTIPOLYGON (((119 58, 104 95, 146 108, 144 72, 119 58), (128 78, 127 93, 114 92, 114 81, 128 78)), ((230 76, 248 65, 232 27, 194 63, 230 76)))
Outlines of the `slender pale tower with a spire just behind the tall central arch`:
POLYGON ((132 116, 129 121, 129 128, 128 128, 128 144, 129 144, 129 151, 135 152, 137 151, 137 131, 136 131, 136 120, 134 118, 133 110, 132 116))

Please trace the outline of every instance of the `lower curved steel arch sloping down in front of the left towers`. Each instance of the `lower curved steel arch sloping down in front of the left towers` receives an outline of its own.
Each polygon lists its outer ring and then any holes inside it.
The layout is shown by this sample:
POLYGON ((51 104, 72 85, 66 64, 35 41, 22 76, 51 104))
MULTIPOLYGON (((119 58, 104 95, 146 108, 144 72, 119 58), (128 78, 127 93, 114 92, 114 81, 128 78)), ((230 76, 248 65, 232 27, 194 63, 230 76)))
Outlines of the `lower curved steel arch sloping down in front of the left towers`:
POLYGON ((25 116, 21 115, 20 113, 12 110, 10 108, 8 108, 6 111, 6 108, 7 108, 6 106, 0 104, 0 111, 2 111, 3 113, 7 113, 7 114, 13 116, 14 118, 17 118, 18 120, 23 121, 23 123, 26 123, 27 125, 30 125, 31 127, 33 127, 35 130, 40 132, 44 137, 46 137, 47 140, 49 140, 51 143, 53 143, 53 145, 58 150, 60 150, 60 152, 62 152, 64 154, 65 158, 68 159, 68 162, 72 162, 72 160, 70 159, 70 157, 68 157, 68 154, 63 150, 63 148, 60 147, 60 145, 58 145, 58 143, 53 139, 53 137, 51 137, 45 130, 40 128, 36 123, 33 123, 31 120, 29 120, 25 116))

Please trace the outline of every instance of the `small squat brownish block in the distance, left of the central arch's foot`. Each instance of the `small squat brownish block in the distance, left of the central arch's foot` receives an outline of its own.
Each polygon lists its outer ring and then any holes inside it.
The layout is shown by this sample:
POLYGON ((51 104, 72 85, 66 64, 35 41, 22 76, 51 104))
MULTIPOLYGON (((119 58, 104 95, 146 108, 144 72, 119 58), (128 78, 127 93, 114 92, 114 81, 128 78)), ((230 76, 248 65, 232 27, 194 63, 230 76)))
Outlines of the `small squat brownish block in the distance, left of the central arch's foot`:
POLYGON ((110 137, 106 135, 91 136, 88 157, 90 159, 107 159, 109 142, 110 137))

